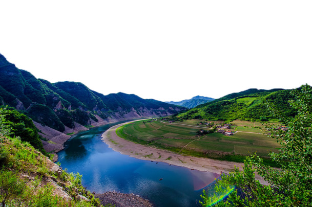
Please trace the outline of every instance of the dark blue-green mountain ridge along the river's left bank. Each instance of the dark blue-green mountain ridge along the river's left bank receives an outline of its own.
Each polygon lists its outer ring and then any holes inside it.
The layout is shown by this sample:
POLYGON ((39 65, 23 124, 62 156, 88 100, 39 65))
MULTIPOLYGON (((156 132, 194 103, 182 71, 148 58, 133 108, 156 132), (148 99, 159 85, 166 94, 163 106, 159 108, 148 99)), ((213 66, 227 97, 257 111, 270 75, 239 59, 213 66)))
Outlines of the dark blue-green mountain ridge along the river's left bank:
POLYGON ((66 133, 122 120, 169 116, 186 109, 153 99, 142 99, 133 94, 105 96, 77 82, 50 83, 19 70, 1 54, 0 105, 8 105, 23 112, 34 121, 37 128, 46 131, 39 132, 41 136, 48 141, 55 139, 55 142, 44 142, 47 151, 60 150, 62 146, 56 147, 56 144, 69 139, 66 133))

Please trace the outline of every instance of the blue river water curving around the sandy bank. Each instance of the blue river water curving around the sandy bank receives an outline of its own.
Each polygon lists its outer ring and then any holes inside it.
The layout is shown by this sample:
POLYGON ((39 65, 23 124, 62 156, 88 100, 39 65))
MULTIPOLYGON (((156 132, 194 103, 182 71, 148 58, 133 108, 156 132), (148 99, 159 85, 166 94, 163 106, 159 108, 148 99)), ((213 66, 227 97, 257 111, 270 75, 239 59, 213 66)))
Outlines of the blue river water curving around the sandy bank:
POLYGON ((116 124, 74 135, 65 143, 65 150, 58 152, 61 167, 82 174, 82 185, 91 192, 134 193, 155 207, 200 206, 202 188, 218 174, 156 164, 115 152, 101 141, 101 134, 116 124))

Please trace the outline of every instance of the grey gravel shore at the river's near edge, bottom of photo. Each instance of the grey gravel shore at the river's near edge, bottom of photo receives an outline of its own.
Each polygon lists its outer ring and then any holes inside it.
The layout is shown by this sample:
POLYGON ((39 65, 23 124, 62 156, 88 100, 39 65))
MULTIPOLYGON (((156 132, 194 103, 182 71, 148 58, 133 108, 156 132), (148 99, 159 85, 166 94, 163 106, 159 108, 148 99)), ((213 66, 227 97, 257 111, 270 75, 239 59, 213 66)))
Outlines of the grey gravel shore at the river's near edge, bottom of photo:
POLYGON ((153 207, 153 204, 149 200, 143 199, 133 193, 105 192, 95 194, 94 197, 98 198, 102 205, 111 203, 115 207, 153 207))

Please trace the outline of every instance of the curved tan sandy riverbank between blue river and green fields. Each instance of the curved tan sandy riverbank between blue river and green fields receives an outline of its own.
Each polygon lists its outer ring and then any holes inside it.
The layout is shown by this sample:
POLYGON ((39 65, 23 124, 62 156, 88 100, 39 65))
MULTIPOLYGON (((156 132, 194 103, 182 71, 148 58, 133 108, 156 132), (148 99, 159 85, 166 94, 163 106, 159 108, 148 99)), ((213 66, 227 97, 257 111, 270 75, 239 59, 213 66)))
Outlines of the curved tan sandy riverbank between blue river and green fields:
MULTIPOLYGON (((167 150, 143 146, 124 140, 116 134, 116 129, 128 123, 131 122, 113 126, 102 134, 102 140, 114 151, 120 152, 121 154, 126 154, 138 159, 164 162, 200 171, 210 171, 217 174, 220 174, 221 171, 225 173, 233 172, 234 166, 239 167, 242 170, 243 163, 227 162, 203 157, 183 156, 167 150)), ((256 175, 256 178, 261 183, 266 184, 262 177, 256 175)))

